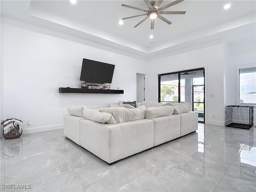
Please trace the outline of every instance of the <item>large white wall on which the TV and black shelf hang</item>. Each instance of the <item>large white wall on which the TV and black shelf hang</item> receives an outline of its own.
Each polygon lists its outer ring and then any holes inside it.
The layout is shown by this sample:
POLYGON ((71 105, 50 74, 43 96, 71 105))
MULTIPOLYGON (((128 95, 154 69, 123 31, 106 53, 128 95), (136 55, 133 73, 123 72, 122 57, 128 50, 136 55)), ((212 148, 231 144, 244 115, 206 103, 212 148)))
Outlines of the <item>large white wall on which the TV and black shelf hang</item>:
POLYGON ((24 129, 32 128, 25 133, 42 131, 61 128, 67 106, 100 108, 118 100, 136 99, 136 72, 144 72, 145 61, 56 38, 51 33, 56 35, 37 26, 1 19, 1 119, 20 118, 24 129), (44 31, 48 35, 41 33, 44 31), (116 65, 111 88, 122 89, 124 94, 60 94, 59 87, 81 87, 83 58, 116 65), (27 120, 31 120, 31 126, 27 120))

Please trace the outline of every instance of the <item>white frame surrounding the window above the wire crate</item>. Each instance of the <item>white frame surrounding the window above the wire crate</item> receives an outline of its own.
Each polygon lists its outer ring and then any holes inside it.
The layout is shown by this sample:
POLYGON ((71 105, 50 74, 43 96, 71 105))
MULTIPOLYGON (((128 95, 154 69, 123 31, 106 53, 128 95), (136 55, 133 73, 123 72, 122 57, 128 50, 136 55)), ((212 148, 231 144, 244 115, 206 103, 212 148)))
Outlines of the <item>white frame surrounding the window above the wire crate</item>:
POLYGON ((243 65, 236 65, 236 105, 249 105, 249 106, 254 106, 256 107, 256 104, 250 104, 250 103, 245 103, 245 104, 241 104, 240 103, 240 69, 244 69, 244 68, 252 68, 252 67, 256 67, 256 63, 249 63, 249 64, 243 64, 243 65))

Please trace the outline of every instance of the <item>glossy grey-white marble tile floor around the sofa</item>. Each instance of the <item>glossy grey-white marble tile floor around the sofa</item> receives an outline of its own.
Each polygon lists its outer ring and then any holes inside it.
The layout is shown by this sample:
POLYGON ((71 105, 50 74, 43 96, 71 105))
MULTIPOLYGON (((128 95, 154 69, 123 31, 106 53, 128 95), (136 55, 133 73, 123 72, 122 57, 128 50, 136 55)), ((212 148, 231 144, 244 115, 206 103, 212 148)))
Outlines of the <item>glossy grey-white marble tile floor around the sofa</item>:
POLYGON ((65 138, 63 130, 1 138, 0 150, 4 192, 256 191, 254 127, 198 123, 196 132, 112 166, 65 138))

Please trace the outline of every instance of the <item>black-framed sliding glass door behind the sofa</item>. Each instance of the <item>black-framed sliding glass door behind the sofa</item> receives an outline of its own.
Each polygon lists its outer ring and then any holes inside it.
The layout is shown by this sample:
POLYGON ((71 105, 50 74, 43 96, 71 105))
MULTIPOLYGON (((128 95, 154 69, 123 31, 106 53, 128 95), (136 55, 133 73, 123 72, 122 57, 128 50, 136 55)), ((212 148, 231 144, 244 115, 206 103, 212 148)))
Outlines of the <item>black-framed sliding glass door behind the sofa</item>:
POLYGON ((158 75, 158 102, 189 102, 204 122, 204 68, 158 75))

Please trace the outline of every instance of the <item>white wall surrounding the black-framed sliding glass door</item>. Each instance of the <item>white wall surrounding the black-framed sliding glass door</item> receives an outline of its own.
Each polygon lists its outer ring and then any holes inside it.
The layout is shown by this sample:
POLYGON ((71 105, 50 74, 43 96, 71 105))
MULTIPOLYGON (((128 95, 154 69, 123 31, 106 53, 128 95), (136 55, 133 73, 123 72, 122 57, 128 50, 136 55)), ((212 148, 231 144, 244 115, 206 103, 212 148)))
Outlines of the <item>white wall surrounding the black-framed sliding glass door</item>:
POLYGON ((158 74, 204 67, 205 122, 223 125, 223 52, 223 44, 220 44, 150 62, 148 66, 148 100, 158 101, 158 74), (210 94, 214 94, 214 98, 209 98, 210 94), (215 115, 215 118, 213 118, 213 115, 215 115))

